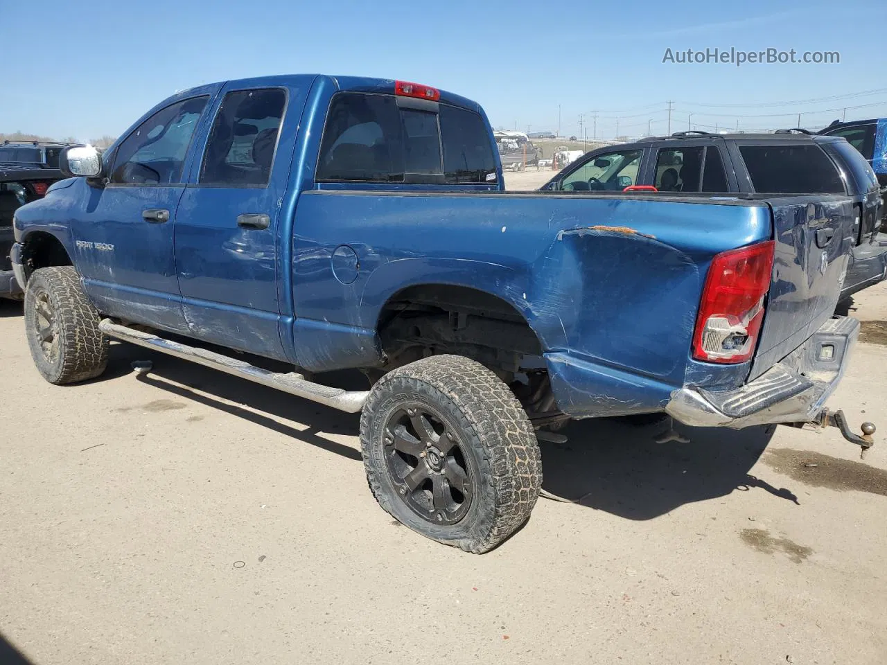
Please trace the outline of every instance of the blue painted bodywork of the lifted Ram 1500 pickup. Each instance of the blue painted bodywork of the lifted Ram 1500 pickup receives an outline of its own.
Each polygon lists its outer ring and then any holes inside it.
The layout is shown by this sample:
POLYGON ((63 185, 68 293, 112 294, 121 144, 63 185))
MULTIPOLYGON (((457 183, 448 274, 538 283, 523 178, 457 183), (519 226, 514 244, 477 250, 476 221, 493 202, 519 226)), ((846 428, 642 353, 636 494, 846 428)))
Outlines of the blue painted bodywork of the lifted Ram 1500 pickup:
MULTIPOLYGON (((499 191, 501 168, 491 185, 315 184, 333 94, 393 88, 312 74, 178 93, 143 119, 179 99, 210 96, 182 184, 65 181, 20 208, 17 239, 56 236, 106 314, 314 372, 380 365, 381 310, 405 288, 490 293, 536 332, 558 403, 577 416, 657 410, 684 385, 742 385, 750 364, 695 362, 690 340, 711 258, 772 238, 774 218, 777 281, 762 350, 795 343, 836 297, 841 250, 829 250, 831 272, 813 274, 810 231, 846 223, 840 197, 814 198, 808 210, 797 200, 514 194, 499 191), (201 186, 200 155, 224 92, 269 86, 288 95, 271 182, 201 186), (149 224, 140 215, 146 207, 174 214, 149 224), (256 213, 270 216, 268 229, 237 225, 238 215, 256 213), (114 244, 114 252, 77 249, 78 239, 114 244)), ((483 116, 451 93, 442 101, 483 116)))

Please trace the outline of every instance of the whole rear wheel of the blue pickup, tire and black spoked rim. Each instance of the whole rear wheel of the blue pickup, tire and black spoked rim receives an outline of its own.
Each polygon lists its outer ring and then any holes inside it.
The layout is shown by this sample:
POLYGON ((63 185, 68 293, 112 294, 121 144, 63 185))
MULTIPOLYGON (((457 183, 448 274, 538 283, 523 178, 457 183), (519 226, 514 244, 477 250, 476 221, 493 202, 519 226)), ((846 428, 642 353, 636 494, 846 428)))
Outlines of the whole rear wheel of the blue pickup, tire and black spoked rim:
POLYGON ((489 552, 529 517, 542 484, 521 403, 482 364, 432 356, 386 374, 360 420, 367 481, 422 536, 489 552))

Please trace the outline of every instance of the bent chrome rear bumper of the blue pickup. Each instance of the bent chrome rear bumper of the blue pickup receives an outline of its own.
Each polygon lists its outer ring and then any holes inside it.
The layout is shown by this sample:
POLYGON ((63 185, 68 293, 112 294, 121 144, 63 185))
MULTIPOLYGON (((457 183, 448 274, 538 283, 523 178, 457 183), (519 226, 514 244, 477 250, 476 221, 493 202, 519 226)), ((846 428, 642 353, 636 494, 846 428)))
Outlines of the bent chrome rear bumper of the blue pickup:
POLYGON ((781 362, 746 385, 712 391, 682 387, 665 407, 689 426, 731 427, 812 422, 834 392, 860 335, 850 317, 828 319, 781 362))

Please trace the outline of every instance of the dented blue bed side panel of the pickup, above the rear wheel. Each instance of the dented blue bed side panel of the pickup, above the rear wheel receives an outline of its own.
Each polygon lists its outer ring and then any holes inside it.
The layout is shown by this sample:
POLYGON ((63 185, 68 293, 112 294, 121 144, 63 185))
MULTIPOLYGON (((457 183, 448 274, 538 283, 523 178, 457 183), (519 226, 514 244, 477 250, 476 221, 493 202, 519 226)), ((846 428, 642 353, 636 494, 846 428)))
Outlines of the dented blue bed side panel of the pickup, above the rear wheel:
POLYGON ((771 232, 757 205, 479 192, 306 192, 295 228, 296 312, 334 336, 374 330, 408 286, 469 286, 509 302, 546 352, 665 387, 684 383, 711 257, 771 232), (359 262, 347 285, 326 259, 342 244, 359 262))

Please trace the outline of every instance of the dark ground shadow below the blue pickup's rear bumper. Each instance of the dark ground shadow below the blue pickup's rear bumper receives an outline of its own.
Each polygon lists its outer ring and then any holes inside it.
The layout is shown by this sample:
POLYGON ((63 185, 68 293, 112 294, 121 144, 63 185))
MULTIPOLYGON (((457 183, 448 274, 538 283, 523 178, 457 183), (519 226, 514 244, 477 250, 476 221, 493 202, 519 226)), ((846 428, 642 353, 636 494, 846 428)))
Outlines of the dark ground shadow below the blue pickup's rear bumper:
POLYGON ((749 473, 773 437, 773 427, 677 428, 689 442, 655 442, 668 423, 571 423, 563 431, 567 443, 541 443, 544 487, 558 497, 629 520, 651 520, 679 505, 725 497, 735 489, 764 489, 798 504, 789 489, 774 488, 749 473))

